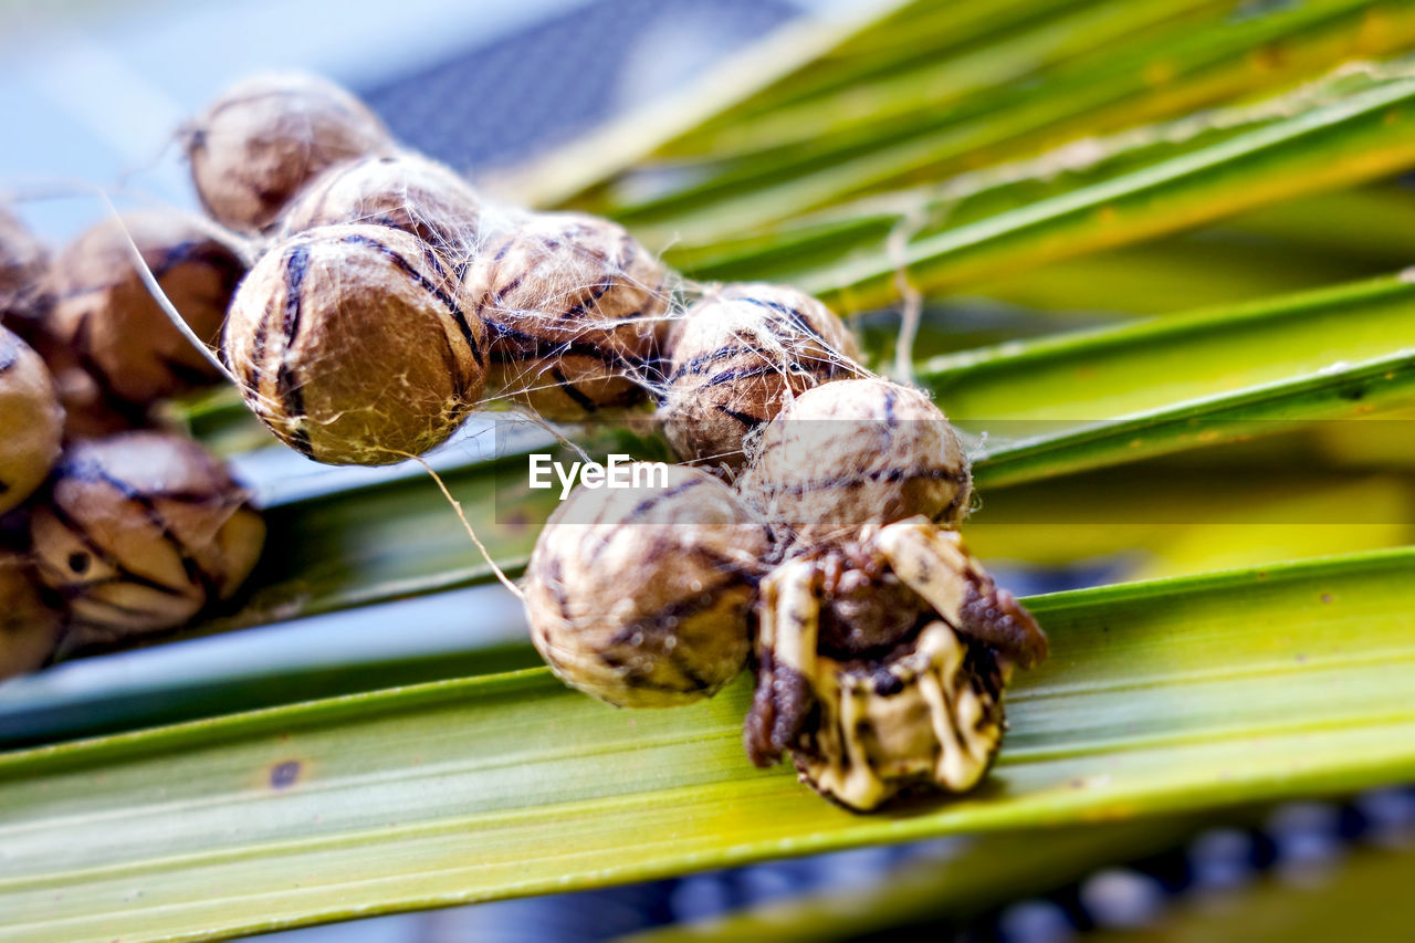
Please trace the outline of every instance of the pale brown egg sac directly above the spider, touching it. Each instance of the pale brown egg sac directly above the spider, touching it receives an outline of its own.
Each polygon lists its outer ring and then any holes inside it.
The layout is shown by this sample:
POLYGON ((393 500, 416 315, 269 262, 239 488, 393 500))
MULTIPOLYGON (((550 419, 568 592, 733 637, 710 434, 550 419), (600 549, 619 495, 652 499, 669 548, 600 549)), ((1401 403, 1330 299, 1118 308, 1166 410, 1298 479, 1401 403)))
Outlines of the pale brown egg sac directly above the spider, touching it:
POLYGON ((918 389, 841 379, 808 389, 761 433, 737 487, 804 544, 923 514, 957 527, 972 476, 962 442, 918 389))

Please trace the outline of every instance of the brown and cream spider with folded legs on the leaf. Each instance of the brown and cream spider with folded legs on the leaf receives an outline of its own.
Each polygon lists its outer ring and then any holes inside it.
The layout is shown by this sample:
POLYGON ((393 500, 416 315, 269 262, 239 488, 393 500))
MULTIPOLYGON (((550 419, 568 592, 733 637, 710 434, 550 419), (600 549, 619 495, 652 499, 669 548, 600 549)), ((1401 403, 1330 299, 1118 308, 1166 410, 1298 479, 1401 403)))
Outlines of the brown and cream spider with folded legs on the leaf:
POLYGON ((749 758, 790 752, 856 810, 910 789, 971 789, 1002 741, 1013 663, 1046 654, 1036 622, 924 517, 792 556, 761 583, 749 758))

